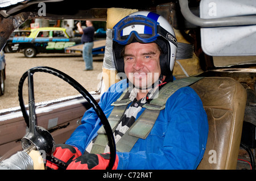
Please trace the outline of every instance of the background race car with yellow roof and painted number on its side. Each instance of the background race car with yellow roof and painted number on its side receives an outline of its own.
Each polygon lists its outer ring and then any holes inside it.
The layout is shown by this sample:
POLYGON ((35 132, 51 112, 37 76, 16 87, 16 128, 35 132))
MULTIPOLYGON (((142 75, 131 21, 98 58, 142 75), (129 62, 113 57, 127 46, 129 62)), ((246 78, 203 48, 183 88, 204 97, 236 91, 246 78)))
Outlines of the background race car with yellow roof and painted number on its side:
POLYGON ((38 53, 65 53, 65 48, 81 43, 80 37, 70 38, 65 28, 43 27, 31 30, 30 36, 11 37, 7 47, 11 52, 31 58, 38 53))

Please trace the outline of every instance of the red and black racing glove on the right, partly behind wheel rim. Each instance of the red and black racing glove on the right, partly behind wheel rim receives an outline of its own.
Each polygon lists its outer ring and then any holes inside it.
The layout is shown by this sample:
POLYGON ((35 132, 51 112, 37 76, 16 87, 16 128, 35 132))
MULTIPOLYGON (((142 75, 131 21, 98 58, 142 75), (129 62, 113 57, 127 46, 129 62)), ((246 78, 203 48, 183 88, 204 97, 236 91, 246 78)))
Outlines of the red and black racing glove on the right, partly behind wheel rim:
MULTIPOLYGON (((72 161, 67 170, 105 170, 109 165, 109 153, 104 154, 83 154, 80 157, 72 161)), ((115 163, 113 170, 116 170, 118 166, 118 156, 115 157, 115 163)))

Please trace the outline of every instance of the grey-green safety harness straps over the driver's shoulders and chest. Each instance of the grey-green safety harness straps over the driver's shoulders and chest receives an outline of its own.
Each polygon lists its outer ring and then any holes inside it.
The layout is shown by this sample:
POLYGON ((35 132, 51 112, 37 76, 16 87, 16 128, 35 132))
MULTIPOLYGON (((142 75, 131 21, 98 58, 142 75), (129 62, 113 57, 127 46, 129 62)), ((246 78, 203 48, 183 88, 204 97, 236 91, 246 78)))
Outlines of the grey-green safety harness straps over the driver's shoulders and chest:
MULTIPOLYGON (((187 77, 183 79, 178 79, 174 82, 169 82, 167 85, 160 89, 158 97, 152 99, 150 103, 143 105, 146 109, 143 111, 142 115, 138 117, 137 121, 126 131, 126 133, 121 137, 121 139, 116 144, 116 149, 119 152, 130 151, 139 138, 146 139, 151 129, 154 127, 155 121, 161 110, 166 107, 167 99, 170 98, 175 91, 181 87, 192 85, 193 83, 199 81, 203 77, 187 77)), ((112 104, 114 106, 112 113, 110 114, 108 120, 112 131, 115 131, 123 113, 131 102, 127 98, 129 92, 123 92, 119 99, 112 104)), ((101 127, 98 130, 98 137, 93 144, 91 153, 104 153, 106 145, 108 143, 108 138, 106 136, 105 130, 101 127)))

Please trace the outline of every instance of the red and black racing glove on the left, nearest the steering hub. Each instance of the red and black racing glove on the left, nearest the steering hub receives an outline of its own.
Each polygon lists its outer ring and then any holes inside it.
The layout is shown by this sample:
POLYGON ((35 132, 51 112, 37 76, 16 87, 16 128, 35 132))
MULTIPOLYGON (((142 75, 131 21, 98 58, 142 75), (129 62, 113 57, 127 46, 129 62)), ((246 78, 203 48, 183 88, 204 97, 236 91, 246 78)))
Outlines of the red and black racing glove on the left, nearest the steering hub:
MULTIPOLYGON (((56 157, 67 164, 71 163, 74 159, 80 157, 81 155, 82 154, 79 149, 67 144, 56 145, 56 150, 53 153, 53 157, 56 157)), ((53 170, 59 169, 59 167, 55 163, 52 163, 50 161, 47 161, 46 167, 53 170)))

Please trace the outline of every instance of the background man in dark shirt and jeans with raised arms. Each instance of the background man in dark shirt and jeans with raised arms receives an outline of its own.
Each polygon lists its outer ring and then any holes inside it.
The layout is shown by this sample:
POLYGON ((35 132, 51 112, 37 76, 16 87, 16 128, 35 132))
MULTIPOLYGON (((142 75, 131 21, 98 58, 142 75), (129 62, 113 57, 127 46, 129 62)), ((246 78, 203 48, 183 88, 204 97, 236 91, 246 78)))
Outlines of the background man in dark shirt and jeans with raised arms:
POLYGON ((93 37, 94 37, 94 27, 90 20, 86 20, 86 28, 82 29, 81 22, 76 24, 79 33, 82 34, 82 44, 84 47, 82 48, 82 57, 85 61, 85 71, 93 70, 93 37))

